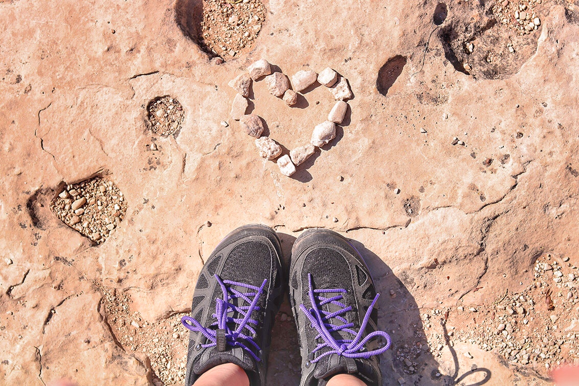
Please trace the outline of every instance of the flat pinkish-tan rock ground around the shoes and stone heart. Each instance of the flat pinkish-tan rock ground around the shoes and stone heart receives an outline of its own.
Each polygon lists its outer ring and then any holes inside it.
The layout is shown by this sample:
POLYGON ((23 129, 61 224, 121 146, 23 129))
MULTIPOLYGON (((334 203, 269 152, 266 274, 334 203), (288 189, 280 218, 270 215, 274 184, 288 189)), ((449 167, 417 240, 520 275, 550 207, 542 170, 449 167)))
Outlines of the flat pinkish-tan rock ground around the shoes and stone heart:
MULTIPOLYGON (((247 223, 274 227, 286 259, 309 227, 355 240, 393 337, 387 385, 545 385, 577 363, 579 3, 263 5, 218 64, 183 32, 200 1, 0 1, 0 383, 181 384, 179 318, 247 223), (291 178, 229 117, 229 80, 262 57, 290 78, 334 68, 354 94, 291 178), (164 95, 184 111, 171 135, 147 116, 164 95), (50 205, 94 176, 126 204, 99 244, 50 205)), ((306 91, 289 108, 252 85, 284 154, 334 105, 306 91)), ((299 365, 286 302, 268 384, 297 384, 299 365)))

